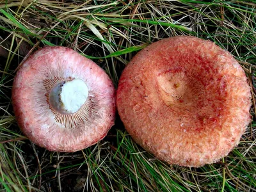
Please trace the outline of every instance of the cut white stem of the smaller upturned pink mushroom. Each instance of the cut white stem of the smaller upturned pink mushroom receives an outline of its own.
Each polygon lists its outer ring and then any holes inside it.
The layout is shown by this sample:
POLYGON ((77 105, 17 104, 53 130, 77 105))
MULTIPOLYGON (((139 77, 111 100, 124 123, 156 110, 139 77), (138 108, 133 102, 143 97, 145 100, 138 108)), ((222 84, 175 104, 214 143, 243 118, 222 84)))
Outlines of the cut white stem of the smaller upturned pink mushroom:
POLYGON ((62 81, 52 88, 49 102, 56 111, 63 114, 76 113, 88 97, 88 86, 81 79, 62 81))

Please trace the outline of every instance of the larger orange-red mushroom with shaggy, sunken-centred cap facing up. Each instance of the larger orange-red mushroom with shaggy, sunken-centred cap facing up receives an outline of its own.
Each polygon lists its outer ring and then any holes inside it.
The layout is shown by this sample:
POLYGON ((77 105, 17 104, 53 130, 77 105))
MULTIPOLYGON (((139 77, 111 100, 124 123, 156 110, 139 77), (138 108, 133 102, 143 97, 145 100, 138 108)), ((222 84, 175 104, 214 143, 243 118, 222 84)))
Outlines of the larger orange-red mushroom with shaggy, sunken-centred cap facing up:
POLYGON ((250 86, 232 55, 211 41, 176 36, 140 51, 124 69, 116 106, 132 138, 180 166, 219 161, 250 123, 250 86))

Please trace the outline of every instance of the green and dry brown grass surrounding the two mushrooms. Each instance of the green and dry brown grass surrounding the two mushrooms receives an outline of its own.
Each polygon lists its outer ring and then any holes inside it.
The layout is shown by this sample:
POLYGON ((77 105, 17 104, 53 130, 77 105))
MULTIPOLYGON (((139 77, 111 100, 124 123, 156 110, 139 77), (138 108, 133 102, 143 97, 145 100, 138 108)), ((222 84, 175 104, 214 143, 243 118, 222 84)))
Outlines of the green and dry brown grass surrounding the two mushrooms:
POLYGON ((256 191, 255 7, 255 1, 221 0, 0 0, 0 190, 256 191), (104 68, 117 86, 136 52, 176 35, 230 51, 252 87, 252 124, 219 163, 186 168, 158 161, 131 140, 119 118, 103 141, 73 154, 44 150, 20 132, 11 89, 29 51, 71 47, 104 68))

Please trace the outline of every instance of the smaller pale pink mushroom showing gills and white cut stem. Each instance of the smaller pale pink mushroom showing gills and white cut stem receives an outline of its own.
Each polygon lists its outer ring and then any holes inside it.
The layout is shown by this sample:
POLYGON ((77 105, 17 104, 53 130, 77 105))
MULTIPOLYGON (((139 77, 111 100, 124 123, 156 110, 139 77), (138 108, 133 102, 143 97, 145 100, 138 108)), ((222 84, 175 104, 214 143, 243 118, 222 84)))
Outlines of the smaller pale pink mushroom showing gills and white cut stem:
POLYGON ((29 56, 15 76, 12 102, 22 132, 51 151, 90 147, 115 120, 111 79, 67 47, 44 47, 29 56))

